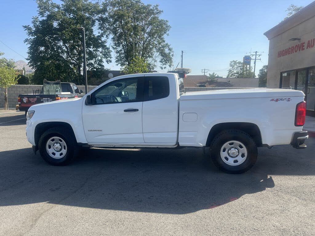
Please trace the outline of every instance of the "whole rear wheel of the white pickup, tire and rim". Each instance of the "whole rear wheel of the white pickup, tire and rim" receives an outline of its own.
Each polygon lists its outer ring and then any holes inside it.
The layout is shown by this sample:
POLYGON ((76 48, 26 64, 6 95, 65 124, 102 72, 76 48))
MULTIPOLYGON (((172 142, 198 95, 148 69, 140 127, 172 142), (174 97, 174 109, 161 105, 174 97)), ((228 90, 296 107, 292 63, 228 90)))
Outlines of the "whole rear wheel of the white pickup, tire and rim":
POLYGON ((241 130, 225 130, 215 136, 210 145, 213 163, 230 174, 248 171, 257 160, 257 146, 253 138, 241 130))

